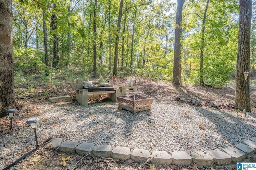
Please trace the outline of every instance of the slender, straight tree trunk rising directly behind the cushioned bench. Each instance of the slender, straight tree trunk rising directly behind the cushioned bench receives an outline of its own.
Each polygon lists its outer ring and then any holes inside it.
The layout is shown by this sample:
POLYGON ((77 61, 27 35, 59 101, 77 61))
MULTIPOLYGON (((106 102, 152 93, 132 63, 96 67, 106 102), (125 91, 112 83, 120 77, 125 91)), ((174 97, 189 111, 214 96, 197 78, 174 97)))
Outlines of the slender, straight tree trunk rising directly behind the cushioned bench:
POLYGON ((93 77, 97 77, 97 51, 96 51, 96 15, 97 15, 97 0, 94 0, 93 12, 93 77))

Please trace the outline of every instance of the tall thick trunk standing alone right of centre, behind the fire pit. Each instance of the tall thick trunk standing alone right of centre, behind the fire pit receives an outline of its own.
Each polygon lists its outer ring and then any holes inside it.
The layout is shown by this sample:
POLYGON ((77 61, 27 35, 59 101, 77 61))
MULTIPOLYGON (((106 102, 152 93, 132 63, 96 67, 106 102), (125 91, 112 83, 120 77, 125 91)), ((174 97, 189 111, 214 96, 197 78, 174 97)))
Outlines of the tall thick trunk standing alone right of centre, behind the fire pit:
POLYGON ((180 38, 182 33, 181 21, 182 21, 182 6, 185 0, 177 0, 176 11, 176 24, 175 24, 175 37, 174 37, 174 61, 173 61, 173 73, 172 84, 179 86, 181 84, 181 44, 180 38))

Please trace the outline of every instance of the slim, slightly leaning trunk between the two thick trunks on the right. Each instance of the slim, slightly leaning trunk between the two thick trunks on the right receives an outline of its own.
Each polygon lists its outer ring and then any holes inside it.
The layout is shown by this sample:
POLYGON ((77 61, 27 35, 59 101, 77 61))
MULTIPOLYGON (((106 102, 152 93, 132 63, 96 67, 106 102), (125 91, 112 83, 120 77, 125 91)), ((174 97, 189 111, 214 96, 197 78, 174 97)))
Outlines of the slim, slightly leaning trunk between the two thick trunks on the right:
POLYGON ((209 6, 209 1, 206 2, 206 7, 204 10, 204 18, 202 23, 202 37, 201 37, 201 49, 200 49, 200 86, 204 85, 204 79, 203 79, 203 63, 204 63, 204 32, 205 32, 205 20, 206 20, 206 13, 209 6))

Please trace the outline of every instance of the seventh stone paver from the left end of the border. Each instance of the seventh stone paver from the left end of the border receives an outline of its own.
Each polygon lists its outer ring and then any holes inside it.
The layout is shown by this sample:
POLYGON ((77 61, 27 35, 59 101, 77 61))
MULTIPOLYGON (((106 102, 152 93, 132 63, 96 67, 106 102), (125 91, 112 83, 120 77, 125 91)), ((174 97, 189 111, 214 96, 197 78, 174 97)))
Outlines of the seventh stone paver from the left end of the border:
POLYGON ((166 151, 153 150, 151 157, 154 157, 151 163, 155 165, 169 165, 172 163, 172 156, 166 151))

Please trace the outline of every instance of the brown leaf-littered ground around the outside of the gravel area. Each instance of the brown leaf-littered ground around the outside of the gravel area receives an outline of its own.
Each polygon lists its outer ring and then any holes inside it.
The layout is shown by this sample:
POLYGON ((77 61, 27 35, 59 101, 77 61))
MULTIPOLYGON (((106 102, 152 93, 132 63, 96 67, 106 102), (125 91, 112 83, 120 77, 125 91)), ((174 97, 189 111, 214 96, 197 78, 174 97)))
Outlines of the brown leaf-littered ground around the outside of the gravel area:
MULTIPOLYGON (((116 79, 114 84, 116 88, 118 86, 127 86, 128 79, 116 79)), ((223 88, 210 88, 201 87, 198 85, 184 84, 180 87, 174 87, 167 82, 153 82, 149 80, 134 79, 134 85, 137 86, 139 92, 143 92, 149 96, 155 98, 158 101, 168 102, 180 102, 187 105, 193 105, 198 107, 211 107, 220 110, 237 110, 234 107, 234 87, 226 86, 223 88)), ((16 87, 16 107, 18 109, 18 119, 27 119, 37 115, 40 111, 36 107, 42 103, 47 103, 49 97, 54 96, 74 96, 75 98, 75 82, 62 82, 58 86, 45 86, 40 84, 34 84, 34 86, 16 87)), ((102 99, 98 99, 102 100, 102 99)), ((97 102, 99 102, 97 100, 97 102)), ((104 101, 107 101, 104 99, 104 101)), ((90 101, 94 102, 94 101, 90 101)), ((72 101, 73 104, 78 105, 76 100, 72 101)), ((256 93, 250 92, 250 103, 252 113, 256 113, 256 93)), ((244 116, 242 111, 238 111, 240 116, 244 116)), ((0 137, 4 135, 4 128, 10 126, 10 120, 7 117, 0 118, 0 137)), ((24 126, 20 121, 15 122, 15 126, 24 126)), ((20 130, 20 129, 19 129, 20 130)), ((22 152, 22 151, 20 151, 22 152)), ((23 152, 25 152, 23 150, 23 152)), ((18 166, 14 166, 13 169, 106 169, 106 170, 165 170, 165 169, 204 169, 199 168, 197 165, 191 166, 154 166, 152 164, 138 164, 132 160, 116 160, 112 158, 99 158, 94 155, 88 155, 85 158, 79 154, 68 154, 60 151, 54 151, 47 149, 45 146, 40 147, 38 150, 27 156, 24 160, 18 163, 18 166), (37 160, 40 156, 40 160, 37 160), (61 157, 71 156, 71 159, 67 161, 67 166, 60 166, 61 157), (81 160, 82 159, 82 160, 81 160), (57 166, 56 166, 57 165, 57 166), (86 166, 83 166, 86 165, 86 166), (16 168, 15 168, 16 167, 16 168), (83 168, 79 168, 83 167, 83 168)), ((0 158, 0 162, 1 162, 0 158)), ((16 158, 18 159, 18 157, 16 158)), ((5 162, 5 166, 10 164, 5 162)), ((3 167, 2 167, 3 168, 3 167)), ((214 169, 214 168, 212 168, 214 169)))

